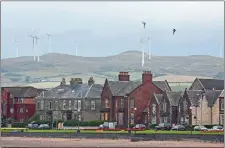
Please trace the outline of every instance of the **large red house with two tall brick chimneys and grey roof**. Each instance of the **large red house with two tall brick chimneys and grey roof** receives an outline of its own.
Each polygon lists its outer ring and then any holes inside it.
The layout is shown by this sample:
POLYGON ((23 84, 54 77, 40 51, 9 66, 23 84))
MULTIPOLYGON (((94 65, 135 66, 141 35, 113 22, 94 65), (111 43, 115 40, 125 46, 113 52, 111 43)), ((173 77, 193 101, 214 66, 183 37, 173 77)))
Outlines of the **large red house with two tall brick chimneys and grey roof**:
POLYGON ((120 72, 118 78, 119 81, 105 80, 100 118, 116 121, 119 127, 127 127, 128 122, 130 125, 148 123, 148 105, 153 93, 171 91, 167 81, 152 81, 150 71, 143 72, 142 81, 130 81, 128 72, 120 72))

